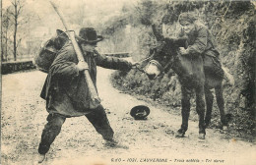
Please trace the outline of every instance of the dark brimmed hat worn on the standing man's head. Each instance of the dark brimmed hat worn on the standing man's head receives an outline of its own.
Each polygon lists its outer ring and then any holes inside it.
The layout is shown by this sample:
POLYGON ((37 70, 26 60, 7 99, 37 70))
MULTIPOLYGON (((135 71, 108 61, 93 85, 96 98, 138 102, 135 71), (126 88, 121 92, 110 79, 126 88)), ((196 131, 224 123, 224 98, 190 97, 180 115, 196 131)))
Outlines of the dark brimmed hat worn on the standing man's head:
POLYGON ((96 29, 94 27, 83 27, 79 31, 79 35, 76 36, 78 42, 96 44, 103 39, 101 35, 96 34, 96 29))

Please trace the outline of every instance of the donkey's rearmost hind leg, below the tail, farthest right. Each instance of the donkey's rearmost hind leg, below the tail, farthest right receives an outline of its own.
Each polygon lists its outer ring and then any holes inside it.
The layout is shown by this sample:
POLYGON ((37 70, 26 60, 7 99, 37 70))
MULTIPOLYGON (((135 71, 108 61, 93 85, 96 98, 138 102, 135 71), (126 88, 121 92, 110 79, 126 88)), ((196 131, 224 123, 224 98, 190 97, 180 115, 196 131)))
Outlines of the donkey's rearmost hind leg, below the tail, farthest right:
POLYGON ((216 92, 217 104, 218 104, 218 107, 220 109, 221 121, 223 123, 224 129, 226 129, 227 120, 226 120, 225 114, 224 114, 224 95, 223 95, 224 91, 223 91, 223 86, 219 85, 219 86, 215 87, 215 92, 216 92))

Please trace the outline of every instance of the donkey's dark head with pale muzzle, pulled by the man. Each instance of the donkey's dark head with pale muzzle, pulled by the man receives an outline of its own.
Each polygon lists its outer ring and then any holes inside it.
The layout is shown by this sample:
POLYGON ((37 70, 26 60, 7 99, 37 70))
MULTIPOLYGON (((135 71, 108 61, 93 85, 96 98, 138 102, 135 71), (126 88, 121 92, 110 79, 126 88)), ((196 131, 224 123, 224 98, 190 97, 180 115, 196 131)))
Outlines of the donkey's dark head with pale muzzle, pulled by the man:
POLYGON ((186 38, 164 38, 164 41, 152 50, 152 59, 145 68, 149 79, 156 79, 162 72, 168 71, 178 58, 178 48, 185 47, 185 43, 186 38))

